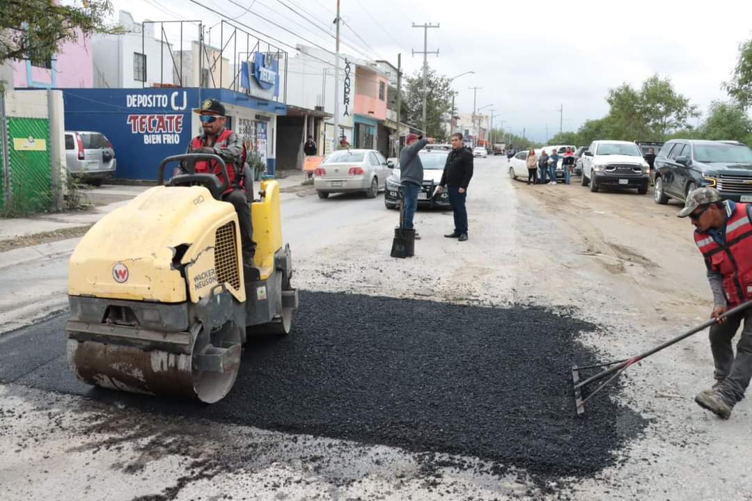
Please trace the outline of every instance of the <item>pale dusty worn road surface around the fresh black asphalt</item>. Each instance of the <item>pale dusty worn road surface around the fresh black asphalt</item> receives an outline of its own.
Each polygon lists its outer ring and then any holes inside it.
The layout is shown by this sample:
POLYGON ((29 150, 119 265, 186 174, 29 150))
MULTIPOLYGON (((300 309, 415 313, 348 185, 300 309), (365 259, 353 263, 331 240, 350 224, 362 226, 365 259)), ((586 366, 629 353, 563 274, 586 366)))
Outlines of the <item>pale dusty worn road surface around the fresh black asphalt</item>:
MULTIPOLYGON (((389 258, 396 212, 384 209, 381 195, 326 201, 289 195, 284 234, 293 247, 295 283, 304 290, 473 307, 551 306, 598 324, 598 331, 581 334, 581 343, 602 358, 621 358, 708 313, 702 260, 677 210, 649 196, 513 182, 505 158, 496 157, 476 161, 467 243, 442 237, 451 229, 447 213, 421 212, 416 257, 389 258)), ((62 290, 65 258, 13 273, 2 269, 0 279, 53 294, 62 290), (49 281, 40 286, 42 276, 49 281)), ((752 445, 738 440, 749 434, 749 403, 720 422, 692 401, 711 381, 702 334, 623 378, 614 399, 649 424, 616 451, 621 463, 576 484, 541 485, 473 454, 426 461, 426 454, 393 446, 280 433, 237 419, 205 421, 183 403, 91 391, 67 373, 62 320, 0 337, 0 448, 12 451, 0 460, 2 499, 750 499, 752 492, 752 477, 738 467, 752 455, 752 445), (169 419, 165 406, 175 409, 169 419)), ((362 329, 358 315, 338 312, 340 322, 362 329)), ((314 355, 320 350, 311 347, 314 355)), ((609 424, 622 433, 633 415, 609 424)))

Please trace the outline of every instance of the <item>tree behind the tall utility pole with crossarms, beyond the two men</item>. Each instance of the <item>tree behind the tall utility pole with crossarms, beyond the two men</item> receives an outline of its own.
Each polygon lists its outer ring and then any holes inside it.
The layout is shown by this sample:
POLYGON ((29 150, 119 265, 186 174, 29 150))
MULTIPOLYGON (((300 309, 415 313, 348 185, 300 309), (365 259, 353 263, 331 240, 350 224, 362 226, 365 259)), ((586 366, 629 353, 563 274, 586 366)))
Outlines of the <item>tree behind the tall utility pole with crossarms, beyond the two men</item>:
MULTIPOLYGON (((451 80, 444 75, 429 69, 427 77, 426 98, 426 134, 438 140, 447 139, 444 125, 451 114, 452 95, 451 80)), ((405 107, 407 119, 405 122, 423 126, 423 70, 416 71, 411 77, 405 78, 405 107)))

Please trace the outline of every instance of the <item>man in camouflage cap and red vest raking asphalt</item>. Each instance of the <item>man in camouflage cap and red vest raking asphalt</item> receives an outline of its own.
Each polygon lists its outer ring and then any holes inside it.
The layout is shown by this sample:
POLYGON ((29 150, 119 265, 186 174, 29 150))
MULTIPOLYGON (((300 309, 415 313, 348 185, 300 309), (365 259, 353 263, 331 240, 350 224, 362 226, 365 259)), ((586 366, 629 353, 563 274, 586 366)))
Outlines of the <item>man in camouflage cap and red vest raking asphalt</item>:
MULTIPOLYGON (((695 242, 705 258, 713 291, 711 316, 718 318, 752 299, 752 204, 723 201, 716 189, 699 188, 690 193, 678 216, 689 216, 696 228, 695 242)), ((752 377, 752 309, 710 327, 710 347, 716 381, 711 389, 701 391, 695 402, 728 419, 752 377), (734 355, 731 340, 742 321, 734 355)))

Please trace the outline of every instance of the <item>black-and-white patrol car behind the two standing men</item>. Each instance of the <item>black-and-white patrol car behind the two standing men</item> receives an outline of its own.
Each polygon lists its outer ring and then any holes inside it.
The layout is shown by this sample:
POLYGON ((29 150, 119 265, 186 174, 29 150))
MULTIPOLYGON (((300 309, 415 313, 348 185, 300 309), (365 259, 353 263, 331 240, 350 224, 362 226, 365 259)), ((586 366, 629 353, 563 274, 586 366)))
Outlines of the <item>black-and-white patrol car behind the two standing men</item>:
MULTIPOLYGON (((423 187, 418 192, 418 207, 450 207, 447 192, 436 194, 438 183, 441 183, 441 174, 444 174, 444 165, 447 163, 448 151, 426 150, 418 152, 420 162, 423 164, 423 187)), ((396 209, 402 195, 399 191, 399 163, 387 177, 386 191, 384 191, 384 205, 387 209, 396 209)))

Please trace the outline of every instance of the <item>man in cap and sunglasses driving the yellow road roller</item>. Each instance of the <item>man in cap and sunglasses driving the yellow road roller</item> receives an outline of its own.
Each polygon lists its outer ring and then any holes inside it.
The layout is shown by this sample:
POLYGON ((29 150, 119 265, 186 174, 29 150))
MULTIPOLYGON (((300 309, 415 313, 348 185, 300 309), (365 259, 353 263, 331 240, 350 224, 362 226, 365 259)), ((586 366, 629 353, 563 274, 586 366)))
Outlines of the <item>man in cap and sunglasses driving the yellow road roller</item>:
MULTIPOLYGON (((225 127, 225 107, 216 99, 207 99, 202 106, 193 113, 199 113, 204 134, 196 136, 188 147, 190 153, 210 153, 219 155, 227 165, 229 188, 223 193, 222 200, 229 202, 238 213, 240 224, 241 246, 243 248, 243 264, 253 267, 253 255, 256 253, 256 243, 253 242, 253 222, 250 219, 250 205, 241 186, 241 156, 243 144, 238 135, 225 127)), ((197 161, 197 173, 216 174, 223 181, 222 167, 218 161, 197 161), (211 163, 211 167, 210 164, 211 163)))

